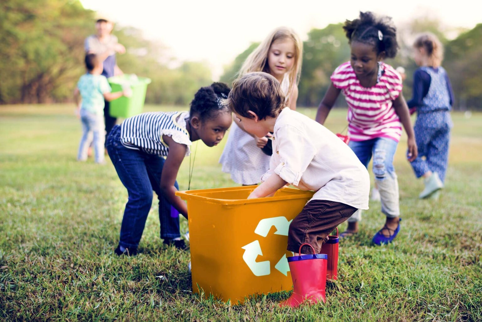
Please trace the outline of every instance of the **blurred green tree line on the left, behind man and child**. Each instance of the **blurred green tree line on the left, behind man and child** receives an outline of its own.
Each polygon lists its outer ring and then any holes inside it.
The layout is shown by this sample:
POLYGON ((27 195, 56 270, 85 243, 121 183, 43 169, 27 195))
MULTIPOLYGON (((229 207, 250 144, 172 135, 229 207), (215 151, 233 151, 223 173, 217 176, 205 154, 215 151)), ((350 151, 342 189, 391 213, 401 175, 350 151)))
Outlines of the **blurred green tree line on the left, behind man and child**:
MULTIPOLYGON (((84 39, 95 32, 94 12, 78 0, 2 0, 0 4, 0 104, 62 102, 72 99, 85 73, 84 39)), ((127 53, 117 55, 126 73, 149 77, 148 103, 187 105, 212 82, 206 64, 182 62, 132 27, 114 31, 127 53)))

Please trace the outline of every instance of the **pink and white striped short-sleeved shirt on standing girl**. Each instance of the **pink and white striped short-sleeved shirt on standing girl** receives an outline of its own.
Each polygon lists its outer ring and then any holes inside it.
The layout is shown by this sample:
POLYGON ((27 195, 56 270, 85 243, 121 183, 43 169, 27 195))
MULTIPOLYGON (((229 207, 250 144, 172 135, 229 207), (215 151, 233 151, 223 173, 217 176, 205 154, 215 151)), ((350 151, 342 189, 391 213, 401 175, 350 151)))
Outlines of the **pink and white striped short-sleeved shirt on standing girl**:
POLYGON ((402 92, 402 79, 390 65, 382 63, 382 70, 379 81, 370 88, 360 84, 350 62, 338 66, 330 78, 348 103, 348 135, 353 141, 377 137, 400 140, 402 124, 393 100, 402 92))

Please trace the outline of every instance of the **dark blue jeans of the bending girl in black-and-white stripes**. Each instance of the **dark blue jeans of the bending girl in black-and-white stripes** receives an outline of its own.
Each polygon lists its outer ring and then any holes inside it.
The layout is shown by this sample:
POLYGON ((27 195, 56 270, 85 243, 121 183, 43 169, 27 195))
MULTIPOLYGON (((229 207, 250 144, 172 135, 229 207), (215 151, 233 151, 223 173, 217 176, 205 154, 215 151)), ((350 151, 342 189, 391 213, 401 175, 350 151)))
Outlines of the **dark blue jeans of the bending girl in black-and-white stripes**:
MULTIPOLYGON (((161 191, 164 158, 124 147, 120 143, 120 125, 114 126, 107 138, 107 152, 129 194, 120 227, 119 244, 122 247, 139 245, 152 205, 153 190, 159 199, 161 238, 180 237, 179 215, 176 212, 171 215, 172 206, 161 191)), ((177 182, 174 186, 178 188, 177 182)))

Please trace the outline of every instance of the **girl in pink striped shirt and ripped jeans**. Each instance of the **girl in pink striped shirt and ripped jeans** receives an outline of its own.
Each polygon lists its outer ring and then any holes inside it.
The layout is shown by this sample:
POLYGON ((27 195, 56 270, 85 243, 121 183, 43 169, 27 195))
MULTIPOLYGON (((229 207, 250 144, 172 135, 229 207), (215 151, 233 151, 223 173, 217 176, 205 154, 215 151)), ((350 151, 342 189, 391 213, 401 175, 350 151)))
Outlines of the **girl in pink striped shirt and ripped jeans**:
MULTIPOLYGON (((350 44, 351 59, 335 69, 316 120, 323 124, 340 92, 345 95, 349 147, 366 167, 373 157, 382 213, 387 216, 385 225, 373 237, 373 242, 379 245, 391 242, 400 230, 399 190, 393 155, 402 125, 408 136, 409 161, 417 157, 415 135, 402 95, 400 75, 382 61, 397 54, 396 28, 391 18, 376 17, 371 12, 360 13, 359 19, 347 20, 343 29, 350 44)), ((361 210, 358 210, 348 219, 348 228, 342 236, 358 232, 360 220, 361 210)))

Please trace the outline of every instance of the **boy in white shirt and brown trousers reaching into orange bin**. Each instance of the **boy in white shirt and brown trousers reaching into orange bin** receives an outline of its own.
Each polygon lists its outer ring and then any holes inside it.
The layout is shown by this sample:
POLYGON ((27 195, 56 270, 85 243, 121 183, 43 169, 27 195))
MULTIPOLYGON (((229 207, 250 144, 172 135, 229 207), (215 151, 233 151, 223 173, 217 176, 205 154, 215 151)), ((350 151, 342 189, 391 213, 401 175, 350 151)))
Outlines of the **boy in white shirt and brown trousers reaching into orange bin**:
MULTIPOLYGON (((348 146, 320 123, 286 108, 279 82, 263 72, 233 83, 227 104, 244 129, 258 137, 273 132, 269 170, 250 198, 272 196, 287 184, 316 191, 292 221, 288 251, 309 243, 317 253, 328 234, 357 209, 368 209, 370 178, 348 146)), ((301 254, 311 254, 303 246, 301 254)))

